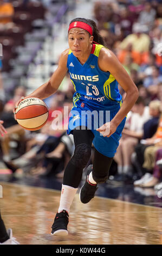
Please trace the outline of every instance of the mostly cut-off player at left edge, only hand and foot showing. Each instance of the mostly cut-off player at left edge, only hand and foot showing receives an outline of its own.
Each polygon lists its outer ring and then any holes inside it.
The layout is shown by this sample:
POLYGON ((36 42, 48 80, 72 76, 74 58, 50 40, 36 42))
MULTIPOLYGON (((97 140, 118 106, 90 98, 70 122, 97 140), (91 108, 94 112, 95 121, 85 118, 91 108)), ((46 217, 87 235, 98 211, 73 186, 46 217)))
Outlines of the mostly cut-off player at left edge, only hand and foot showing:
MULTIPOLYGON (((4 133, 7 133, 7 131, 3 127, 3 121, 0 120, 0 133, 1 136, 4 136, 4 133)), ((0 199, 1 200, 1 199, 0 199)), ((14 237, 12 237, 12 229, 6 230, 4 222, 1 218, 1 212, 0 212, 0 245, 18 245, 19 243, 16 241, 14 237)))

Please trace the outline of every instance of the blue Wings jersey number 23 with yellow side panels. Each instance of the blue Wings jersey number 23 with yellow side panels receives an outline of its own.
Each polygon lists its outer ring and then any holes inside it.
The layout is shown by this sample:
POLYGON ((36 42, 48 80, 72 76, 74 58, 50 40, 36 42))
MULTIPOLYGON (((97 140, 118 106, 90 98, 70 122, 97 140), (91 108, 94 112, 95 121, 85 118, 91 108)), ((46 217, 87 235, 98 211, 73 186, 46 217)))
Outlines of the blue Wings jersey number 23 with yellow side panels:
POLYGON ((73 105, 77 107, 79 102, 85 102, 87 106, 100 109, 112 109, 121 105, 121 95, 118 82, 107 71, 100 70, 98 58, 103 45, 93 44, 92 52, 85 64, 81 64, 69 50, 67 68, 70 80, 76 93, 73 96, 73 105))

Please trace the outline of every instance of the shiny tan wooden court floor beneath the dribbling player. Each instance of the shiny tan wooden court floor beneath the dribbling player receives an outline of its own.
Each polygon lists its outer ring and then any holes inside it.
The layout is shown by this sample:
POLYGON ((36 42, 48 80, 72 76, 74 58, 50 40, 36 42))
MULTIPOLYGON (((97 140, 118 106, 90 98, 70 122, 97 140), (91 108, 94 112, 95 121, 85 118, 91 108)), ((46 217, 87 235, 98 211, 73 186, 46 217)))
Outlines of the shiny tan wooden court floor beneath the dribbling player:
POLYGON ((0 182, 0 209, 7 228, 23 245, 160 245, 162 209, 95 197, 82 204, 76 194, 69 235, 50 235, 60 192, 0 182))

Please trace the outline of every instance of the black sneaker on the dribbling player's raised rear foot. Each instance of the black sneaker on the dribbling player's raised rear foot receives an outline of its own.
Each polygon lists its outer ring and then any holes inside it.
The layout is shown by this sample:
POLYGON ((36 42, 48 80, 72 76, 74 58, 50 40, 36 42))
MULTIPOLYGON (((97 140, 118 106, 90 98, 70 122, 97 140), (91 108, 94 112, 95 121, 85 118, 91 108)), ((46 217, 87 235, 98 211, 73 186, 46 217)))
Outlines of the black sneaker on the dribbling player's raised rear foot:
POLYGON ((88 181, 88 176, 90 172, 92 172, 92 164, 87 168, 87 178, 85 184, 81 187, 79 197, 83 204, 87 204, 92 198, 94 198, 94 194, 98 189, 97 184, 91 184, 88 181))

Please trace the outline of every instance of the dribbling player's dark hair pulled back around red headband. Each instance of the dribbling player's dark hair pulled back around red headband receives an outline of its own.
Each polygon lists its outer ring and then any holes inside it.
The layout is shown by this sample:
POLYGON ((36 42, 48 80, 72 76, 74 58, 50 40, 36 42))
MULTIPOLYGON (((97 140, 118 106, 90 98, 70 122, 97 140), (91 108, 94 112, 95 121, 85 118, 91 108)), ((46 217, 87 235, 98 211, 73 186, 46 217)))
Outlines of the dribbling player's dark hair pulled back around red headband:
MULTIPOLYGON (((72 22, 75 22, 75 21, 82 21, 82 22, 85 22, 85 23, 87 23, 90 27, 92 27, 92 31, 93 31, 93 37, 94 37, 94 41, 95 42, 98 42, 98 44, 101 44, 101 45, 104 45, 104 40, 103 40, 103 38, 102 38, 102 36, 99 34, 99 30, 98 30, 98 28, 97 28, 97 26, 96 26, 96 23, 95 23, 95 21, 93 21, 93 20, 90 20, 90 19, 84 19, 84 18, 75 18, 75 19, 73 19, 72 21, 70 21, 70 24, 72 23, 72 22)), ((69 25, 70 25, 69 24, 69 25)), ((89 33, 89 32, 87 32, 87 33, 89 33)), ((89 34, 90 35, 90 34, 89 34)))

